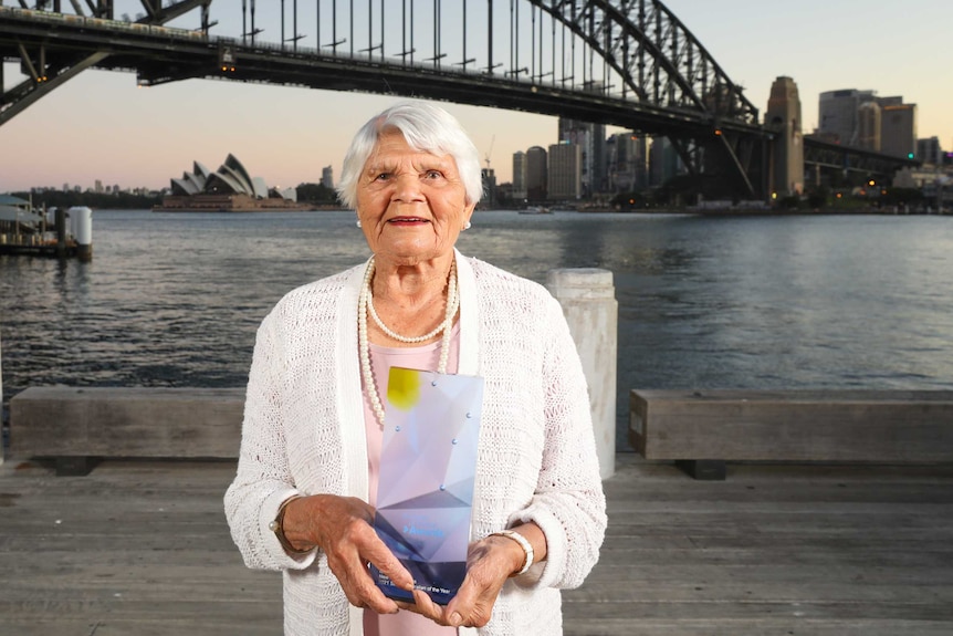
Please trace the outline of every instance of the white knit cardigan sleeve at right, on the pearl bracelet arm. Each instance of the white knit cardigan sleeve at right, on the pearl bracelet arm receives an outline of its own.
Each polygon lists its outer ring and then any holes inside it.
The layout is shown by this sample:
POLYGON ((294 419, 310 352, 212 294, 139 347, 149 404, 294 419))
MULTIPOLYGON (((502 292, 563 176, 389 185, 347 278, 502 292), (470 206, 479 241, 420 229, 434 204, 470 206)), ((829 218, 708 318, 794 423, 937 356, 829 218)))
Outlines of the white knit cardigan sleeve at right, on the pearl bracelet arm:
POLYGON ((577 587, 599 557, 606 500, 593 432, 583 365, 562 307, 545 303, 545 439, 536 492, 510 523, 535 522, 546 535, 546 561, 517 583, 531 587, 577 587))

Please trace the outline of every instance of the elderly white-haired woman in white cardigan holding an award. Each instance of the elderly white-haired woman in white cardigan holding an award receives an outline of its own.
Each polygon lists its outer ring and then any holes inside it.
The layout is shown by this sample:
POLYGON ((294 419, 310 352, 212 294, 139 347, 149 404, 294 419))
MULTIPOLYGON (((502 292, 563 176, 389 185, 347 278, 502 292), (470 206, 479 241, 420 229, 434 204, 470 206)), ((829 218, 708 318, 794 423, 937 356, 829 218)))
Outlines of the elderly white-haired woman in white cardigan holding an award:
POLYGON ((292 291, 259 329, 224 503, 248 566, 284 572, 285 634, 561 634, 559 590, 598 560, 582 365, 545 289, 455 250, 481 190, 479 154, 446 111, 371 118, 339 192, 373 256, 292 291), (446 606, 373 528, 390 366, 484 380, 467 575, 446 606), (370 564, 415 602, 385 596, 370 564))

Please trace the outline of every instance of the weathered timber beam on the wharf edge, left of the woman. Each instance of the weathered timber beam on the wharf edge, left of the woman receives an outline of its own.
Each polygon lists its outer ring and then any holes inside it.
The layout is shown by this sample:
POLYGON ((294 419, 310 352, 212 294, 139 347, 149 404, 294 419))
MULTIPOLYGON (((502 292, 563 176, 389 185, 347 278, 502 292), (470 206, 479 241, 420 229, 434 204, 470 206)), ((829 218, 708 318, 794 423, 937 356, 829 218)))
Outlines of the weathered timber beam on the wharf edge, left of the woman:
POLYGON ((30 387, 10 399, 10 451, 85 475, 103 457, 237 458, 242 388, 30 387))

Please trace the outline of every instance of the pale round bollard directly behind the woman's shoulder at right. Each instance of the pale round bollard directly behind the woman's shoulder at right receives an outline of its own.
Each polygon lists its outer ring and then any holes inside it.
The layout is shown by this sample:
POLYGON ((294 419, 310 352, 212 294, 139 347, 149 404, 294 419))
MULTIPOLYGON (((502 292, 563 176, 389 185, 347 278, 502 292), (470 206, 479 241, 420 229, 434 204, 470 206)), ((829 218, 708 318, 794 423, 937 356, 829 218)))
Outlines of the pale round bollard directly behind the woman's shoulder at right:
POLYGON ((612 272, 603 269, 562 269, 546 274, 546 288, 559 304, 589 384, 589 406, 599 473, 616 471, 616 364, 619 303, 612 272))

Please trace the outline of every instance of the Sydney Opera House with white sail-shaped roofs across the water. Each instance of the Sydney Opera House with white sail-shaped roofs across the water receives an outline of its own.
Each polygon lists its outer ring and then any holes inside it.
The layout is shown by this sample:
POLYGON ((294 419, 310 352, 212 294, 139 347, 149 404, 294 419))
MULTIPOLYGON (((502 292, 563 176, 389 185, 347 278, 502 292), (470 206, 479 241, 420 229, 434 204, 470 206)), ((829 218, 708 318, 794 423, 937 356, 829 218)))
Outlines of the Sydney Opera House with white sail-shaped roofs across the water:
POLYGON ((294 188, 269 188, 261 177, 251 177, 234 155, 229 155, 218 170, 210 171, 196 161, 191 173, 170 179, 171 192, 163 205, 164 212, 269 212, 310 210, 297 202, 294 188))

